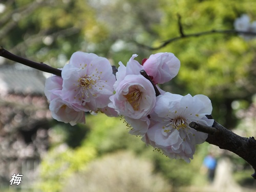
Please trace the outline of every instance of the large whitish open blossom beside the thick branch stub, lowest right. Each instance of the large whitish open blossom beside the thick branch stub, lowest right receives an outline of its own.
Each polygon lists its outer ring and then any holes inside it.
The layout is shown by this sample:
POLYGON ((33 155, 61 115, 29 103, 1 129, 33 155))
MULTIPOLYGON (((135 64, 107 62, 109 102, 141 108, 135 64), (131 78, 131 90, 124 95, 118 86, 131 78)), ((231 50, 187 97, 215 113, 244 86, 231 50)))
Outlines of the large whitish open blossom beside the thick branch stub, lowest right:
POLYGON ((212 126, 214 120, 205 116, 211 111, 211 102, 207 96, 181 96, 166 92, 157 97, 154 114, 151 114, 157 123, 148 129, 143 141, 159 148, 170 158, 182 158, 190 162, 195 145, 203 143, 207 134, 192 129, 189 123, 212 126))

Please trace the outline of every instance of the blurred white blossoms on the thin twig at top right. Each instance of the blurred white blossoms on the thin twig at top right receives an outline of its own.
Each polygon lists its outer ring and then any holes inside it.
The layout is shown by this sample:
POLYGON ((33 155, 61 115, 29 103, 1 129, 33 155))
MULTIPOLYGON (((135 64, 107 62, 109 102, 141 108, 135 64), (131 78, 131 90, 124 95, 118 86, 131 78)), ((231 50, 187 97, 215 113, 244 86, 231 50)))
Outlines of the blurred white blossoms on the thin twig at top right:
MULTIPOLYGON (((256 33, 256 21, 251 22, 247 14, 242 14, 241 17, 234 20, 234 29, 242 32, 256 33)), ((240 34, 245 40, 250 40, 255 37, 255 34, 240 34)))

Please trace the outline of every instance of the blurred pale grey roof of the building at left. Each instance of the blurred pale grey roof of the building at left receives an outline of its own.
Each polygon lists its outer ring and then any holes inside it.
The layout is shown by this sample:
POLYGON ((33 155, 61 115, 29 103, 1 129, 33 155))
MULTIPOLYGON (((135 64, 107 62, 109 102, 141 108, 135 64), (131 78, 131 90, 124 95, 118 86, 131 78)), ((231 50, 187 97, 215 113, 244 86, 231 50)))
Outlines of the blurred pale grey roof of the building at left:
POLYGON ((0 66, 0 94, 44 95, 45 77, 41 71, 20 63, 0 66))

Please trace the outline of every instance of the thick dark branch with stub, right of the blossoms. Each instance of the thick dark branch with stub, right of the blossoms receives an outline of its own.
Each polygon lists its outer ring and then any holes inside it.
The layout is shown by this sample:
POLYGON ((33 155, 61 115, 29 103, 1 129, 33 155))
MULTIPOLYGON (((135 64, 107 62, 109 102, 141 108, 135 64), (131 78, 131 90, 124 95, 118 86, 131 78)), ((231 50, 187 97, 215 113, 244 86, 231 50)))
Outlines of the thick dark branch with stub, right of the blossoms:
POLYGON ((254 137, 241 137, 214 121, 212 127, 191 122, 189 126, 197 131, 208 133, 206 142, 233 152, 246 160, 254 169, 251 175, 256 179, 256 140, 254 137))

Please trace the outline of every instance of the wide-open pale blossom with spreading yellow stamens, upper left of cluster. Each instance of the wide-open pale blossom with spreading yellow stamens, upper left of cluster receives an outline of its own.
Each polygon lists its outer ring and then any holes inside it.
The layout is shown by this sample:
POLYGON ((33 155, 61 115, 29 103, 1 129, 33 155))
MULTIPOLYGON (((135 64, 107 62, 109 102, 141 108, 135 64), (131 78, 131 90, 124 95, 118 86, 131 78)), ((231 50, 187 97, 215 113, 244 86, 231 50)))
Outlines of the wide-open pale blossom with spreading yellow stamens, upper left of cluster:
POLYGON ((63 98, 83 111, 97 111, 110 102, 115 76, 108 59, 93 53, 75 52, 63 67, 63 98))

